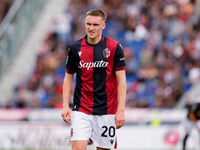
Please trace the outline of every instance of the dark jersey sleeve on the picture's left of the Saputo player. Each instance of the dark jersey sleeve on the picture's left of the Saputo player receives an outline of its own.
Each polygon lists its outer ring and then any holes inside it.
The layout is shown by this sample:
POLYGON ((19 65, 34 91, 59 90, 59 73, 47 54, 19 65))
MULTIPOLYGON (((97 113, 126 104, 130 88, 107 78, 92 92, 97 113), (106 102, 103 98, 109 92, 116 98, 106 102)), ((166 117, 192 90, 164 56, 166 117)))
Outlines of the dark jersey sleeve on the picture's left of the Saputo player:
POLYGON ((75 61, 74 61, 74 53, 72 47, 70 46, 68 49, 68 55, 66 60, 66 72, 70 74, 74 74, 76 71, 75 61))

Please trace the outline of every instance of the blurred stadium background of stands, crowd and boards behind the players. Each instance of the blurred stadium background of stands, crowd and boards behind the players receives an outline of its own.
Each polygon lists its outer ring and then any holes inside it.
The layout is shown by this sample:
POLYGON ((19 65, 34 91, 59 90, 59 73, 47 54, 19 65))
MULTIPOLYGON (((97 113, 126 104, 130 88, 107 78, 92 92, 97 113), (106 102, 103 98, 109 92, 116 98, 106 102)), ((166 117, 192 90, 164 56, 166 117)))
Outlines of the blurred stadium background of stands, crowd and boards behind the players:
MULTIPOLYGON (((103 34, 124 48, 118 149, 182 148, 185 108, 200 96, 200 0, 0 0, 0 149, 71 149, 62 81, 91 8, 105 11, 103 34)), ((189 149, 197 138, 194 129, 189 149)))

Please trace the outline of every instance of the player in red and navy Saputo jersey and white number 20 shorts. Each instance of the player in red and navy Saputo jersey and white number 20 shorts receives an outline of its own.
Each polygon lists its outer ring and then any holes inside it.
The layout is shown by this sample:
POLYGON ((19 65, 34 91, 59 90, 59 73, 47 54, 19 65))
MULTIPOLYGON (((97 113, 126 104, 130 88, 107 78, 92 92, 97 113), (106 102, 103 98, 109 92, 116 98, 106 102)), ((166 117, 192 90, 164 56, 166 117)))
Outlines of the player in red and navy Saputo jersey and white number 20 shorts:
POLYGON ((97 150, 116 145, 116 129, 125 124, 126 76, 122 46, 102 35, 106 15, 100 9, 86 13, 86 36, 68 50, 61 116, 71 122, 73 150, 86 150, 90 138, 97 150), (74 106, 69 107, 76 73, 74 106))

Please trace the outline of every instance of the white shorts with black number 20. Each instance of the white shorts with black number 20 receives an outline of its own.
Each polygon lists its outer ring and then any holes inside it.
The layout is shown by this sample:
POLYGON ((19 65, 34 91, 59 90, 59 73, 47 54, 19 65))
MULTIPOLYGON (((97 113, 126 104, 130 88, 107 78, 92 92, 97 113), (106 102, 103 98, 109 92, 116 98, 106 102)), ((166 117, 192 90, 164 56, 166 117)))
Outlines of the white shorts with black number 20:
MULTIPOLYGON (((71 141, 92 140, 100 148, 116 148, 115 115, 88 115, 78 111, 71 113, 71 141)), ((90 141, 91 142, 91 141, 90 141)))

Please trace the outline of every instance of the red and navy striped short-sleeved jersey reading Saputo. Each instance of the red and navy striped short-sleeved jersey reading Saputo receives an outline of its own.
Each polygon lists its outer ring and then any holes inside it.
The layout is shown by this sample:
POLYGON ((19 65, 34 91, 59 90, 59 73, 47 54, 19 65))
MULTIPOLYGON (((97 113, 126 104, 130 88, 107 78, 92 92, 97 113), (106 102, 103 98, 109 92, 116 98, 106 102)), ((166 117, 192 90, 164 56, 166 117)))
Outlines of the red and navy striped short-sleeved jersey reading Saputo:
POLYGON ((115 114, 117 78, 115 71, 125 70, 122 46, 106 36, 97 44, 87 36, 73 42, 68 50, 66 72, 76 73, 73 111, 92 115, 115 114))

